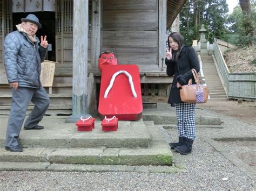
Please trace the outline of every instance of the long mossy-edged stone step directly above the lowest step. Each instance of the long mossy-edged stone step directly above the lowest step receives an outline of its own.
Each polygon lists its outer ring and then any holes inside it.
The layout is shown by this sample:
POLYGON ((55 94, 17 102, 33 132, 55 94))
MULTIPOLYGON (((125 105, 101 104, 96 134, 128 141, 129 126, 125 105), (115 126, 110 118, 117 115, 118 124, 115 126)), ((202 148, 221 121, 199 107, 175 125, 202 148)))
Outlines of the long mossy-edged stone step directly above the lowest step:
MULTIPOLYGON (((166 143, 166 145, 168 145, 166 143)), ((172 165, 167 148, 24 148, 12 153, 0 148, 0 161, 86 165, 172 165)))

